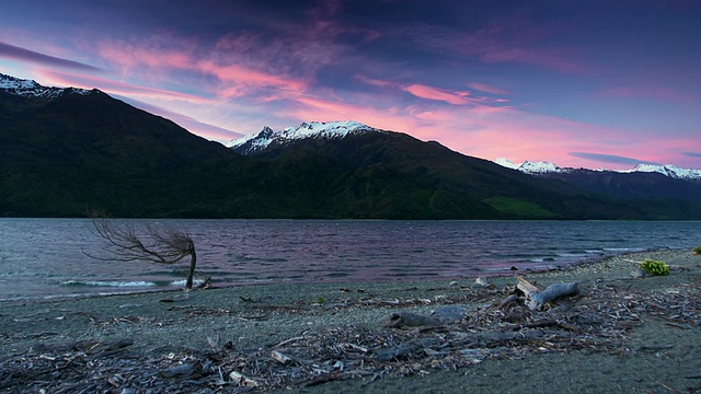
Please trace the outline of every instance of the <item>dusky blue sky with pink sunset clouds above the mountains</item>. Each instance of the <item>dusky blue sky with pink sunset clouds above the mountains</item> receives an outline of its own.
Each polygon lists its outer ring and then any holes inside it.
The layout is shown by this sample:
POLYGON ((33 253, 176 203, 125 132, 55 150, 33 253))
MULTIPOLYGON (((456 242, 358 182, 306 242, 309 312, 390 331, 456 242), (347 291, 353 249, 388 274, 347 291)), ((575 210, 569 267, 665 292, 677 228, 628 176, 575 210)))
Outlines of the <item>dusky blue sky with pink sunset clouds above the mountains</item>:
POLYGON ((701 167, 697 0, 3 0, 0 72, 222 143, 356 120, 519 163, 701 167))

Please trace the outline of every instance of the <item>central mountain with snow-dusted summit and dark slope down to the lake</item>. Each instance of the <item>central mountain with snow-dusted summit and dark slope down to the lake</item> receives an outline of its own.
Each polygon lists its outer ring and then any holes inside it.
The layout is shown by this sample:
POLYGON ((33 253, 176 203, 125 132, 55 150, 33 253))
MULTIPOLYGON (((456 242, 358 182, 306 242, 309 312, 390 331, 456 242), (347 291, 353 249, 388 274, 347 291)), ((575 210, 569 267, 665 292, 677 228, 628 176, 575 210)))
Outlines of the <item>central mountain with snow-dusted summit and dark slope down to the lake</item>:
MULTIPOLYGON (((377 130, 360 124, 342 135, 325 132, 338 129, 338 124, 348 123, 302 124, 297 129, 311 127, 323 131, 317 135, 302 132, 304 138, 289 138, 297 135, 294 128, 277 134, 265 128, 257 136, 248 136, 230 146, 242 154, 266 160, 298 151, 326 158, 353 172, 349 184, 338 187, 338 193, 345 193, 345 198, 349 198, 348 190, 356 190, 353 194, 356 199, 368 198, 358 194, 355 185, 359 183, 374 185, 374 181, 381 177, 402 179, 402 185, 412 185, 413 194, 383 181, 371 188, 374 204, 397 206, 410 199, 433 218, 641 217, 640 212, 624 205, 584 197, 576 188, 562 182, 533 178, 405 134, 377 130), (250 150, 249 147, 263 144, 258 140, 265 140, 265 148, 250 150)), ((330 198, 343 197, 330 190, 330 198)))

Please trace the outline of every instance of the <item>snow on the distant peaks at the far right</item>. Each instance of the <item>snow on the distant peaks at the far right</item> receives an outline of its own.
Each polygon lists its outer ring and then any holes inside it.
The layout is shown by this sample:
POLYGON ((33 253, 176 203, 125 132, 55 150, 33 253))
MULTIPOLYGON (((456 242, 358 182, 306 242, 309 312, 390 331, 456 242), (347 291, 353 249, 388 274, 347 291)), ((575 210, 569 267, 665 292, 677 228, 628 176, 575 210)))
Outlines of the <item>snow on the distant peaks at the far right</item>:
MULTIPOLYGON (((514 169, 521 171, 527 174, 543 174, 543 173, 562 173, 562 172, 572 172, 575 169, 570 167, 559 167, 558 165, 551 162, 529 162, 525 161, 521 164, 516 164, 508 159, 499 158, 495 161, 496 164, 502 166, 514 169)), ((613 170, 595 170, 595 171, 613 171, 613 170)), ((701 170, 694 169, 681 169, 675 165, 657 165, 657 164, 637 164, 632 170, 620 170, 613 171, 619 173, 634 173, 634 172, 645 172, 645 173, 660 173, 663 175, 669 176, 671 178, 678 179, 701 179, 701 170)))

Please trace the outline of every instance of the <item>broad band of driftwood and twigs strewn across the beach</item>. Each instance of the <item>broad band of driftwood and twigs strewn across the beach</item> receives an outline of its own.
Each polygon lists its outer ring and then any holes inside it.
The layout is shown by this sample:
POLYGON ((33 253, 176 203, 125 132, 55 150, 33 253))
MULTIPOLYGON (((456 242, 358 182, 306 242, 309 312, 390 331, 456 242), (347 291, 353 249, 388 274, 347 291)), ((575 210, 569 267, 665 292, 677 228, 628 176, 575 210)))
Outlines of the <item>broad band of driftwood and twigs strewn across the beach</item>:
MULTIPOLYGON (((90 339, 64 346, 37 338, 30 350, 0 360, 0 391, 294 392, 331 381, 361 378, 372 382, 390 375, 457 370, 485 360, 520 360, 544 352, 585 350, 620 356, 666 351, 674 348, 665 343, 631 346, 629 332, 650 320, 677 329, 701 327, 701 283, 697 282, 683 283, 674 291, 650 292, 597 281, 579 294, 577 302, 559 302, 545 312, 521 302, 524 296, 515 292, 517 288, 524 293, 530 290, 531 297, 550 289, 539 291, 535 283, 519 281, 499 292, 456 291, 432 299, 429 306, 421 301, 425 300, 423 297, 397 299, 395 303, 330 300, 350 316, 380 309, 393 311, 392 316, 398 317, 390 318, 394 322, 390 327, 354 324, 349 320, 348 325, 306 328, 287 339, 250 348, 219 345, 229 338, 220 339, 218 331, 207 338, 209 346, 169 346, 148 351, 135 350, 129 338, 90 339), (474 297, 480 297, 476 302, 474 297), (470 306, 475 304, 480 306, 470 306), (407 308, 412 312, 398 311, 407 308), (427 312, 428 308, 433 312, 427 312)), ((308 308, 314 316, 330 313, 308 308)), ((192 323, 193 318, 235 318, 238 313, 208 311, 217 313, 182 314, 170 324, 192 323)), ((283 318, 299 313, 297 306, 275 311, 283 318)), ((158 323, 142 318, 129 323, 129 329, 140 332, 134 329, 137 324, 158 323)))

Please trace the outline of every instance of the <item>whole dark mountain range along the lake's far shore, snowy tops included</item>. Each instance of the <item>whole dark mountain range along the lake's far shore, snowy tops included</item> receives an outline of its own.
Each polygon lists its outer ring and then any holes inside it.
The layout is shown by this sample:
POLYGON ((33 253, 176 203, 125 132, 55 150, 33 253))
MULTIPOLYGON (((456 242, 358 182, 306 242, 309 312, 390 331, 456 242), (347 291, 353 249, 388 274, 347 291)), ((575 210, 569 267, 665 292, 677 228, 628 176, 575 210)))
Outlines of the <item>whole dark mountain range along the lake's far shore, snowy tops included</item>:
POLYGON ((0 216, 90 211, 163 218, 698 219, 701 202, 600 193, 355 121, 264 128, 225 147, 99 90, 45 88, 0 74, 0 216))

